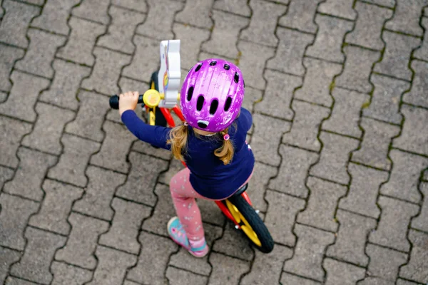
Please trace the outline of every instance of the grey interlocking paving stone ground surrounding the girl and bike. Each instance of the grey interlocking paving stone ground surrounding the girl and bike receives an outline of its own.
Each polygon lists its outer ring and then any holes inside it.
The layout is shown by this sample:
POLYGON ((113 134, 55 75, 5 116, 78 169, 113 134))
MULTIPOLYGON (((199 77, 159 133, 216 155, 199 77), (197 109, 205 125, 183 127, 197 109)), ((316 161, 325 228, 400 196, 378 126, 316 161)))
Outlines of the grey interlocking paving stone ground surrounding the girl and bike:
POLYGON ((0 284, 427 284, 428 0, 0 3, 0 284), (271 254, 210 202, 208 257, 166 236, 180 164, 107 96, 169 38, 243 69, 271 254))

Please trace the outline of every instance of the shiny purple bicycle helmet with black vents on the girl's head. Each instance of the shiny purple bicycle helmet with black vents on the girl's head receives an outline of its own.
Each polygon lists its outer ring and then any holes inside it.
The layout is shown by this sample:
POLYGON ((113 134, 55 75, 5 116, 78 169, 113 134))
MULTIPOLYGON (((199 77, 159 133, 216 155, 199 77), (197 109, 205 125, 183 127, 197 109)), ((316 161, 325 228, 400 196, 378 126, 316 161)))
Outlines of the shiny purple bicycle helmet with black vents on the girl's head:
POLYGON ((193 128, 217 133, 238 116, 244 99, 240 69, 223 59, 210 58, 190 69, 180 92, 185 121, 193 128))

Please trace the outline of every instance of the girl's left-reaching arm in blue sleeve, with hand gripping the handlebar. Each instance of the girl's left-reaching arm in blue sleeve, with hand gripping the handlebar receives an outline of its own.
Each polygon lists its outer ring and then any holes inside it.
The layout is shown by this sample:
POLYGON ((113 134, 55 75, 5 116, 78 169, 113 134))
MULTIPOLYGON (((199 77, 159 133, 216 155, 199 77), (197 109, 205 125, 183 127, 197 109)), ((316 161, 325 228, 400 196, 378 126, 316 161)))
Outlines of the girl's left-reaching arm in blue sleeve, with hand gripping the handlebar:
POLYGON ((148 142, 156 147, 162 147, 169 150, 170 146, 166 141, 169 137, 170 128, 144 123, 134 112, 137 103, 137 92, 128 92, 120 95, 119 113, 121 114, 122 122, 126 125, 126 128, 128 128, 128 130, 130 130, 137 138, 143 140, 143 142, 148 142))

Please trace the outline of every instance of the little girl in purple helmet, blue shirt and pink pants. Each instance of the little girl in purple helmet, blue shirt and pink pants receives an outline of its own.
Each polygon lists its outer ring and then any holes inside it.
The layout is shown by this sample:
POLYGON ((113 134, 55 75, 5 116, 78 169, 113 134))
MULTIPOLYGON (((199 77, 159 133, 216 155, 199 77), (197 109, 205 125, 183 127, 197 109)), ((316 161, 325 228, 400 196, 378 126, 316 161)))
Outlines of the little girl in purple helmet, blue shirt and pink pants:
POLYGON ((171 239, 193 254, 205 257, 202 220, 195 198, 221 200, 233 195, 250 180, 254 156, 245 142, 253 119, 241 108, 244 80, 240 69, 220 59, 193 66, 180 92, 184 125, 175 128, 143 123, 134 112, 138 93, 120 95, 119 113, 137 138, 173 152, 187 168, 170 181, 178 217, 168 222, 171 239))

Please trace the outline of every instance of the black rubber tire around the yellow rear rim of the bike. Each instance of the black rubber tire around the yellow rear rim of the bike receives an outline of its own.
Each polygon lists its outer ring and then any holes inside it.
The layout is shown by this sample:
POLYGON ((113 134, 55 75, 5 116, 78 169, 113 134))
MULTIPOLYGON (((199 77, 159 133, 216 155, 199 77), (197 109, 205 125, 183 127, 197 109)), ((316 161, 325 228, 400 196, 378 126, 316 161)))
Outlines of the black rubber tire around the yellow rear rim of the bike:
MULTIPOLYGON (((258 239, 260 240, 260 243, 262 244, 261 247, 259 247, 257 244, 254 244, 251 239, 250 242, 254 245, 255 248, 259 249, 260 252, 269 253, 272 252, 274 243, 273 239, 270 236, 270 232, 267 229, 265 223, 260 218, 258 213, 255 212, 255 209, 248 204, 247 201, 241 196, 233 196, 228 198, 232 204, 235 205, 235 207, 238 208, 239 212, 243 215, 243 217, 247 220, 248 224, 253 228, 253 231, 255 234, 257 234, 258 239)), ((244 233, 245 234, 245 233, 244 233)), ((245 237, 247 237, 245 235, 245 237)))

